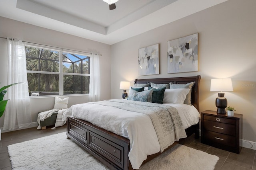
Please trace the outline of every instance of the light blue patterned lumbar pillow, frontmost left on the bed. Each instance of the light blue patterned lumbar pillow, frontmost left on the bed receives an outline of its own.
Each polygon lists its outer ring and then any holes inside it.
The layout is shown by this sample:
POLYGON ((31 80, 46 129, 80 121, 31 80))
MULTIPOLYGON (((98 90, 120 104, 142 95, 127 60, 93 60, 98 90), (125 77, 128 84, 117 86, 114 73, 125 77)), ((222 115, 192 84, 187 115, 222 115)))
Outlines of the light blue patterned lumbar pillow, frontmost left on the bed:
POLYGON ((153 89, 146 90, 143 92, 137 92, 136 90, 130 89, 129 96, 127 100, 135 100, 140 102, 152 102, 153 89))

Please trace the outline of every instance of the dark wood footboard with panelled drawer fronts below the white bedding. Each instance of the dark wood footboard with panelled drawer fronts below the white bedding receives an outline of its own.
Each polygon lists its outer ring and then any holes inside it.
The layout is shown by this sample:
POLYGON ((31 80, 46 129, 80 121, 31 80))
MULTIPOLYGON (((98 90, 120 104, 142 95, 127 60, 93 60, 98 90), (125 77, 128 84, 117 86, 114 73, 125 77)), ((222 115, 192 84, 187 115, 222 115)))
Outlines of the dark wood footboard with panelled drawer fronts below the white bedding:
POLYGON ((128 152, 130 141, 87 121, 67 118, 66 135, 113 170, 132 169, 128 152))

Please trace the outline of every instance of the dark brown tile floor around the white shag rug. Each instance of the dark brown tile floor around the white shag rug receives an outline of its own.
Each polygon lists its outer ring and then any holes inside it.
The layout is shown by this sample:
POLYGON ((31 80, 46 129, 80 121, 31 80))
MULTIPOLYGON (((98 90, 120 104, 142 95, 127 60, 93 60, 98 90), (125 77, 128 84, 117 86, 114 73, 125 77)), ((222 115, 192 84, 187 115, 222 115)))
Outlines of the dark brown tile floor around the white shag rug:
MULTIPOLYGON (((61 133, 64 131, 66 131, 65 125, 62 127, 57 127, 53 130, 51 128, 37 130, 36 127, 34 127, 2 133, 2 140, 0 141, 0 170, 11 170, 11 162, 7 150, 8 145, 61 133)), ((240 154, 235 154, 204 145, 200 143, 200 139, 194 140, 194 136, 182 141, 181 144, 194 149, 202 150, 209 154, 217 155, 220 159, 215 166, 215 170, 256 170, 256 150, 242 148, 240 154)))

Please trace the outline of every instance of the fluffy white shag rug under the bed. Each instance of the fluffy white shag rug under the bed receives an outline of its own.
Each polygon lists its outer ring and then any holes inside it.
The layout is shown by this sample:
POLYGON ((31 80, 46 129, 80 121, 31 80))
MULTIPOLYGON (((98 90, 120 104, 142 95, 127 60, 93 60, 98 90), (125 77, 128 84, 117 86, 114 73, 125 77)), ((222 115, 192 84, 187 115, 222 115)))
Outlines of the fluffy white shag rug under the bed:
MULTIPOLYGON (((108 170, 66 132, 8 146, 13 170, 108 170)), ((140 170, 214 170, 218 156, 176 145, 140 170)))

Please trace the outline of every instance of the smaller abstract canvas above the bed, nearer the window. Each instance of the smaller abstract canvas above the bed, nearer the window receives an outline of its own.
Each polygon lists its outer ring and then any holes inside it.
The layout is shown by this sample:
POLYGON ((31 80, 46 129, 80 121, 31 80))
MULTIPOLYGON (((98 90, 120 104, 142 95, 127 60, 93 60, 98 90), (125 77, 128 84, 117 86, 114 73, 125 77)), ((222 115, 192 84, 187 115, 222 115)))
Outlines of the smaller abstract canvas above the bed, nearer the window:
POLYGON ((159 74, 159 44, 138 50, 139 76, 159 74))

